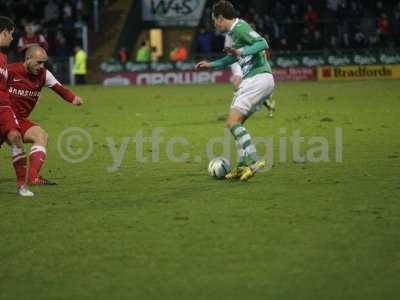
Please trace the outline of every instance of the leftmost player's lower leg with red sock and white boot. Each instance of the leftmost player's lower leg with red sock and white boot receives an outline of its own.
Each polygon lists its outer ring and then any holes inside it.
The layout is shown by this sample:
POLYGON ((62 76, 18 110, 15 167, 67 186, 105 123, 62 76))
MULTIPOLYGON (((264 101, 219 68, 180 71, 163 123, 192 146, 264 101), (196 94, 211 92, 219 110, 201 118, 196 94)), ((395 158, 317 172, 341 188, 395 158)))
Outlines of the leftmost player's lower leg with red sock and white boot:
POLYGON ((11 145, 12 161, 17 176, 17 192, 24 197, 32 197, 34 194, 26 187, 26 155, 21 134, 11 130, 7 134, 7 143, 11 145))

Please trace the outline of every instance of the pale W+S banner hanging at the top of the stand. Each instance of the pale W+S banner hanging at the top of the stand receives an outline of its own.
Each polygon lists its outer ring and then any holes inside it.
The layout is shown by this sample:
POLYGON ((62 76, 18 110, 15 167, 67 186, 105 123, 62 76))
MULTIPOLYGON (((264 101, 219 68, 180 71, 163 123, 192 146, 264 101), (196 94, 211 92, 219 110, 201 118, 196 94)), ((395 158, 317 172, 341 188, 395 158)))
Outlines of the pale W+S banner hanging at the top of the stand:
POLYGON ((144 21, 160 26, 190 26, 199 24, 206 0, 142 0, 144 21))

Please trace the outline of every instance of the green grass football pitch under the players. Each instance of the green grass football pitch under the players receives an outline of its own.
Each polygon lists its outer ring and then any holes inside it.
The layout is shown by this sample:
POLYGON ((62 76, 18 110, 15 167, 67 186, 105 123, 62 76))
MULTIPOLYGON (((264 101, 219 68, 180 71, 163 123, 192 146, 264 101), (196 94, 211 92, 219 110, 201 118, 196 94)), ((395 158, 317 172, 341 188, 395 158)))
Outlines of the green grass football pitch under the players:
POLYGON ((0 299, 398 299, 399 81, 278 83, 245 183, 207 174, 230 85, 73 90, 32 116, 57 186, 18 197, 0 150, 0 299))

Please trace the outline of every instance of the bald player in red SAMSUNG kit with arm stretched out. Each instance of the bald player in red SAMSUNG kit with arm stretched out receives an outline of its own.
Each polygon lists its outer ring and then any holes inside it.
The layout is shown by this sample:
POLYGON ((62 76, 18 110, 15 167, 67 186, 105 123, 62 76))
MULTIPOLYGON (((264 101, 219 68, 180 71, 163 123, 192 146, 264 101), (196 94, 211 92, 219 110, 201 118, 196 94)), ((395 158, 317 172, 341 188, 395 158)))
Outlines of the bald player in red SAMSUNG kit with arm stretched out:
MULTIPOLYGON (((82 105, 83 100, 65 88, 54 75, 44 67, 47 53, 40 46, 31 46, 26 50, 25 61, 8 66, 10 100, 21 128, 25 143, 32 143, 29 154, 28 183, 32 185, 52 185, 39 176, 46 158, 47 133, 36 123, 28 119, 34 109, 43 87, 49 87, 64 100, 73 105, 82 105)), ((22 166, 15 166, 16 171, 22 166)), ((24 166, 25 168, 25 166, 24 166)))

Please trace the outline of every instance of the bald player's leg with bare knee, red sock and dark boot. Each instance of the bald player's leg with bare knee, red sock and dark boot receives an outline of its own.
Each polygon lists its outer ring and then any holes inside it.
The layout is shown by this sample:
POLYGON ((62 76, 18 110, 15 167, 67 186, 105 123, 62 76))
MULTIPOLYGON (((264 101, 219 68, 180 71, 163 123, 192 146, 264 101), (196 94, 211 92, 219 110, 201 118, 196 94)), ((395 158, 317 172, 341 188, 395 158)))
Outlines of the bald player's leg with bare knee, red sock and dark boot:
POLYGON ((31 185, 55 185, 39 175, 47 154, 48 134, 40 126, 29 128, 24 134, 25 143, 33 143, 29 153, 28 183, 31 185))

